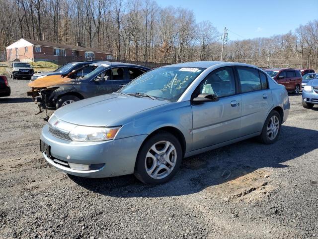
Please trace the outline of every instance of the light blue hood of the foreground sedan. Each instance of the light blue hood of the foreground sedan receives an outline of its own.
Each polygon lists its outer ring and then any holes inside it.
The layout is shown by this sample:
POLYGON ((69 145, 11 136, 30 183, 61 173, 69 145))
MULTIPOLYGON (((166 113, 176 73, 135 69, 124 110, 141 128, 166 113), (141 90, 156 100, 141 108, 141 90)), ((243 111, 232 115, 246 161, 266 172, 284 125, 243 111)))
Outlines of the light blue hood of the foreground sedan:
POLYGON ((54 115, 63 121, 78 125, 117 126, 112 124, 119 119, 128 118, 141 111, 168 103, 147 97, 112 93, 64 106, 57 110, 54 115))

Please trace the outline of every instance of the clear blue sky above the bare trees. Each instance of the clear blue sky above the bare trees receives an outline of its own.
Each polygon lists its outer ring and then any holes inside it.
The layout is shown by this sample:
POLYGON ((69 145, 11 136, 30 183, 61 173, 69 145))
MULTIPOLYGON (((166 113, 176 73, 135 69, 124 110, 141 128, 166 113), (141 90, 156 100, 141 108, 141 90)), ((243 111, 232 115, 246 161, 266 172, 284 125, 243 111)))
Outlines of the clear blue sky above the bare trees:
POLYGON ((197 22, 210 20, 218 31, 226 26, 230 40, 287 33, 318 19, 318 0, 157 0, 159 6, 193 10, 197 22))

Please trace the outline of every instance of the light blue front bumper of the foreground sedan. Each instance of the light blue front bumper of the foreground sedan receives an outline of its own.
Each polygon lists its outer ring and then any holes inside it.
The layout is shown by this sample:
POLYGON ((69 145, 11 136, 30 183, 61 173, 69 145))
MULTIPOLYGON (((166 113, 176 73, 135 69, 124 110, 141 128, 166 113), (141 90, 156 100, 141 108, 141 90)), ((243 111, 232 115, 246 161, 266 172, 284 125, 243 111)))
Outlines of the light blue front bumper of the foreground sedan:
POLYGON ((60 139, 52 135, 46 124, 41 132, 41 140, 49 145, 50 158, 43 153, 46 161, 68 174, 105 178, 132 174, 139 148, 148 135, 137 135, 100 142, 76 142, 60 139), (77 164, 105 164, 96 170, 74 170, 53 161, 53 159, 77 164))

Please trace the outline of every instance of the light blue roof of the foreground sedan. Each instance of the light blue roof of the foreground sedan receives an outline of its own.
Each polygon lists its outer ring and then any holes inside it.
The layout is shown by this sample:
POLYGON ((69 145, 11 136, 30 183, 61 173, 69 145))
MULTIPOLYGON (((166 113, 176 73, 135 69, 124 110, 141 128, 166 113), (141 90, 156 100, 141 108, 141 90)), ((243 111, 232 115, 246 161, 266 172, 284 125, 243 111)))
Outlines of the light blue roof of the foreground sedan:
POLYGON ((225 67, 225 66, 247 66, 257 68, 256 66, 245 64, 245 63, 238 63, 238 62, 226 62, 226 61, 193 61, 193 62, 185 62, 185 63, 177 63, 173 65, 167 65, 162 67, 199 67, 199 68, 209 68, 212 66, 216 67, 225 67))

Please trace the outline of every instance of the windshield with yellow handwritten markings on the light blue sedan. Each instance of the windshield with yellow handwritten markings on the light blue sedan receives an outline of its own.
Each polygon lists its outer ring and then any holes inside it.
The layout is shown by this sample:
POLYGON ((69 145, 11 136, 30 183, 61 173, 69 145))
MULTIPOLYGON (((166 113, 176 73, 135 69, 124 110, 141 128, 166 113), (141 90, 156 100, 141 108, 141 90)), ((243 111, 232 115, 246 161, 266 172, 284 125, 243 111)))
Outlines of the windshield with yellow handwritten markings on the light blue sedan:
POLYGON ((203 70, 205 68, 160 67, 136 78, 120 92, 147 94, 175 102, 203 70))

